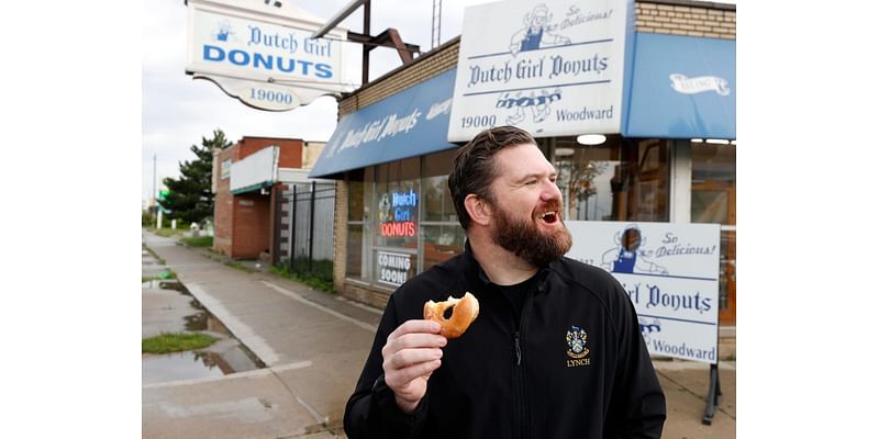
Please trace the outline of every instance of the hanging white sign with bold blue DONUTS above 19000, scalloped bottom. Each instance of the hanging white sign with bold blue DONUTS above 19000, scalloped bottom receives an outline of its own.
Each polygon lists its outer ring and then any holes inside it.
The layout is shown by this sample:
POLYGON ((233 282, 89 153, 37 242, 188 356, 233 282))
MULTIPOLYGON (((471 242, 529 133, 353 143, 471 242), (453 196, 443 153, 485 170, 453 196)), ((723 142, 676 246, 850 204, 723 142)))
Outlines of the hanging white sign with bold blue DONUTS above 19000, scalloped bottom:
POLYGON ((187 74, 249 106, 287 111, 353 89, 343 71, 346 31, 312 40, 322 20, 292 3, 190 0, 188 13, 187 74))

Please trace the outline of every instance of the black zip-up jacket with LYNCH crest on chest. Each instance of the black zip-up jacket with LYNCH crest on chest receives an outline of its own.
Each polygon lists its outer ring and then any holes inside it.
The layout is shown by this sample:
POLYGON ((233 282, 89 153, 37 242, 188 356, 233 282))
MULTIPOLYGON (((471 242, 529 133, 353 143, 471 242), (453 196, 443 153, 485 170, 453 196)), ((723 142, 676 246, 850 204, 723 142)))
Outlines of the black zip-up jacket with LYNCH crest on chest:
POLYGON ((623 288, 568 258, 537 275, 521 319, 469 243, 463 255, 400 286, 345 407, 348 437, 659 438, 665 395, 623 288), (424 302, 467 291, 479 300, 479 316, 443 348, 415 412, 402 413, 383 381, 388 335, 423 318, 424 302))

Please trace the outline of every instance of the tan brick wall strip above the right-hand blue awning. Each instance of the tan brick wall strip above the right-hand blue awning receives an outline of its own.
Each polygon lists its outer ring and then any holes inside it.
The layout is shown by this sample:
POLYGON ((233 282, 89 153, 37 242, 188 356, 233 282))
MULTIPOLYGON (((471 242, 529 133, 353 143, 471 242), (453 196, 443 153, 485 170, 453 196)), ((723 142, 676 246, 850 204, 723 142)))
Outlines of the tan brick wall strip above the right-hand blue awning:
POLYGON ((635 30, 735 40, 735 7, 691 1, 636 2, 635 30))

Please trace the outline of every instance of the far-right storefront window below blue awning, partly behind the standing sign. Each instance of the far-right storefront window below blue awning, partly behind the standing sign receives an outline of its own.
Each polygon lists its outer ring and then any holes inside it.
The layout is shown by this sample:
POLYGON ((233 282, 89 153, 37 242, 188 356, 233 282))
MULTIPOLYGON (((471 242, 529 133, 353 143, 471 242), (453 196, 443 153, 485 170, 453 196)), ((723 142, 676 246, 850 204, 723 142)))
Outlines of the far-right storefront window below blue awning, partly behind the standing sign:
POLYGON ((721 225, 720 320, 735 325, 735 145, 690 145, 691 221, 721 225))

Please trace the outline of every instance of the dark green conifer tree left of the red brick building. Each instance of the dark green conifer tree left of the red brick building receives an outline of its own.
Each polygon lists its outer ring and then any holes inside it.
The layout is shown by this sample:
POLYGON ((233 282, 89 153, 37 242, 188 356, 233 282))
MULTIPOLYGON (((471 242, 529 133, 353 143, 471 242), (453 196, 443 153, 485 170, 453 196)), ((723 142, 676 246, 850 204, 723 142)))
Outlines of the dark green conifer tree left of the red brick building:
POLYGON ((163 180, 168 194, 159 200, 163 207, 170 211, 169 217, 181 219, 183 224, 200 223, 213 215, 213 193, 211 175, 213 172, 213 149, 224 149, 232 145, 222 130, 214 130, 213 138, 201 138, 201 147, 192 145, 189 149, 198 157, 180 164, 180 178, 167 177, 163 180))

